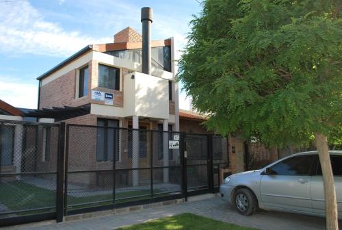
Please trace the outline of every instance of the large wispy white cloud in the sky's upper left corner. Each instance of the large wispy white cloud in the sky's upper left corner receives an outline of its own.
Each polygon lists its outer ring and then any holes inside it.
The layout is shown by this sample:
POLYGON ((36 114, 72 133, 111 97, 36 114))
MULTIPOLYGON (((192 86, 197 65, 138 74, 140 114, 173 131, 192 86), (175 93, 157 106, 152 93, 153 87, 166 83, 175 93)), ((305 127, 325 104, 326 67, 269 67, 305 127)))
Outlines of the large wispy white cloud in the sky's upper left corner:
POLYGON ((67 57, 87 44, 105 43, 111 37, 84 36, 46 21, 27 1, 2 4, 0 8, 0 52, 7 55, 67 57))

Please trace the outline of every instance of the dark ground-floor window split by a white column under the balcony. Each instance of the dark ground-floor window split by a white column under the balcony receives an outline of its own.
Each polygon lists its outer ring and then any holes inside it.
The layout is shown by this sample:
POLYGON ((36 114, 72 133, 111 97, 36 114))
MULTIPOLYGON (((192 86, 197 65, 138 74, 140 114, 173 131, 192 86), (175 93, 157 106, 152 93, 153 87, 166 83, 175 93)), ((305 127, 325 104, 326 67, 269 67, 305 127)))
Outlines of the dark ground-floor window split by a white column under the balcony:
MULTIPOLYGON (((133 153, 133 129, 132 126, 129 125, 128 130, 128 153, 129 158, 132 158, 133 153)), ((147 156, 147 131, 146 127, 140 126, 139 127, 139 157, 146 158, 147 156)))

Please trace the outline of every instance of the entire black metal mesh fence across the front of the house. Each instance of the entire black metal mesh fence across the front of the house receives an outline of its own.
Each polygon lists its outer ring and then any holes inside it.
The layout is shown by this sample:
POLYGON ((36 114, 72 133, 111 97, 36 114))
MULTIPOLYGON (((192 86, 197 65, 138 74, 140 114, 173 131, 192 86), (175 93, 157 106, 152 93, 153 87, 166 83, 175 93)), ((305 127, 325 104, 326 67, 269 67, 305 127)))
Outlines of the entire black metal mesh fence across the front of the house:
POLYGON ((0 120, 0 226, 218 190, 221 136, 0 120), (185 151, 186 150, 186 151, 185 151))

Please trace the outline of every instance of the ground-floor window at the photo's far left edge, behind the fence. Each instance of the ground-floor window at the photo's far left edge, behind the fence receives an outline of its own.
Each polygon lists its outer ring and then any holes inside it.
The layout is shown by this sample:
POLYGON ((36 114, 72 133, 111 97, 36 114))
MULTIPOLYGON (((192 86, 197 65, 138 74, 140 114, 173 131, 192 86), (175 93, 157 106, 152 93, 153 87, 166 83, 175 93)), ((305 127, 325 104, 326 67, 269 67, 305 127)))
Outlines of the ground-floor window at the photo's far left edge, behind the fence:
POLYGON ((15 127, 13 125, 1 126, 1 165, 9 166, 13 164, 14 155, 14 133, 15 127))

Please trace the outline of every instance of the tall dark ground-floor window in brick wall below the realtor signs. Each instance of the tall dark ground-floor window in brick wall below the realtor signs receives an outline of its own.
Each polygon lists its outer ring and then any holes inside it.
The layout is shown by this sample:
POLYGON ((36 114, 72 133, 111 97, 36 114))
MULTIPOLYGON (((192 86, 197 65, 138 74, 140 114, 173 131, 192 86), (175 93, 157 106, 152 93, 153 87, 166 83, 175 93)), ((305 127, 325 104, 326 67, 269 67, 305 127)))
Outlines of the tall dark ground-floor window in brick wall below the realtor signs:
POLYGON ((119 137, 118 120, 100 119, 97 120, 97 151, 96 160, 98 162, 113 161, 114 155, 116 162, 119 160, 119 137))

